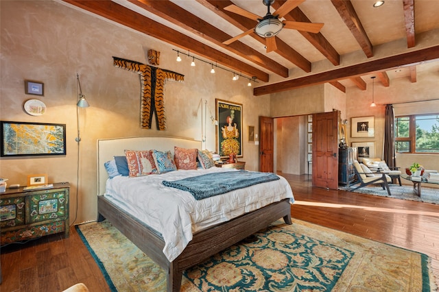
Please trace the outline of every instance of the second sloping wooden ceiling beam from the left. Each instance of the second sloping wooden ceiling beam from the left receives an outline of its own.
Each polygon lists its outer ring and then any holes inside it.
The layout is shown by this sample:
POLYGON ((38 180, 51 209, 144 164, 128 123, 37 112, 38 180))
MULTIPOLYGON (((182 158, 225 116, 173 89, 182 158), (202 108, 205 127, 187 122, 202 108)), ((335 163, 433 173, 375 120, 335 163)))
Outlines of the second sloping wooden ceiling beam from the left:
POLYGON ((256 51, 244 45, 242 42, 233 42, 230 45, 224 45, 222 42, 232 38, 221 29, 217 29, 210 23, 203 21, 197 16, 187 12, 180 6, 172 3, 171 1, 154 1, 154 0, 130 0, 131 3, 138 5, 139 7, 152 12, 161 18, 174 23, 180 27, 183 27, 194 34, 198 34, 202 38, 209 40, 219 47, 228 49, 229 51, 257 64, 277 75, 282 77, 288 77, 288 69, 281 64, 278 64, 274 60, 268 58, 259 51, 256 51))

